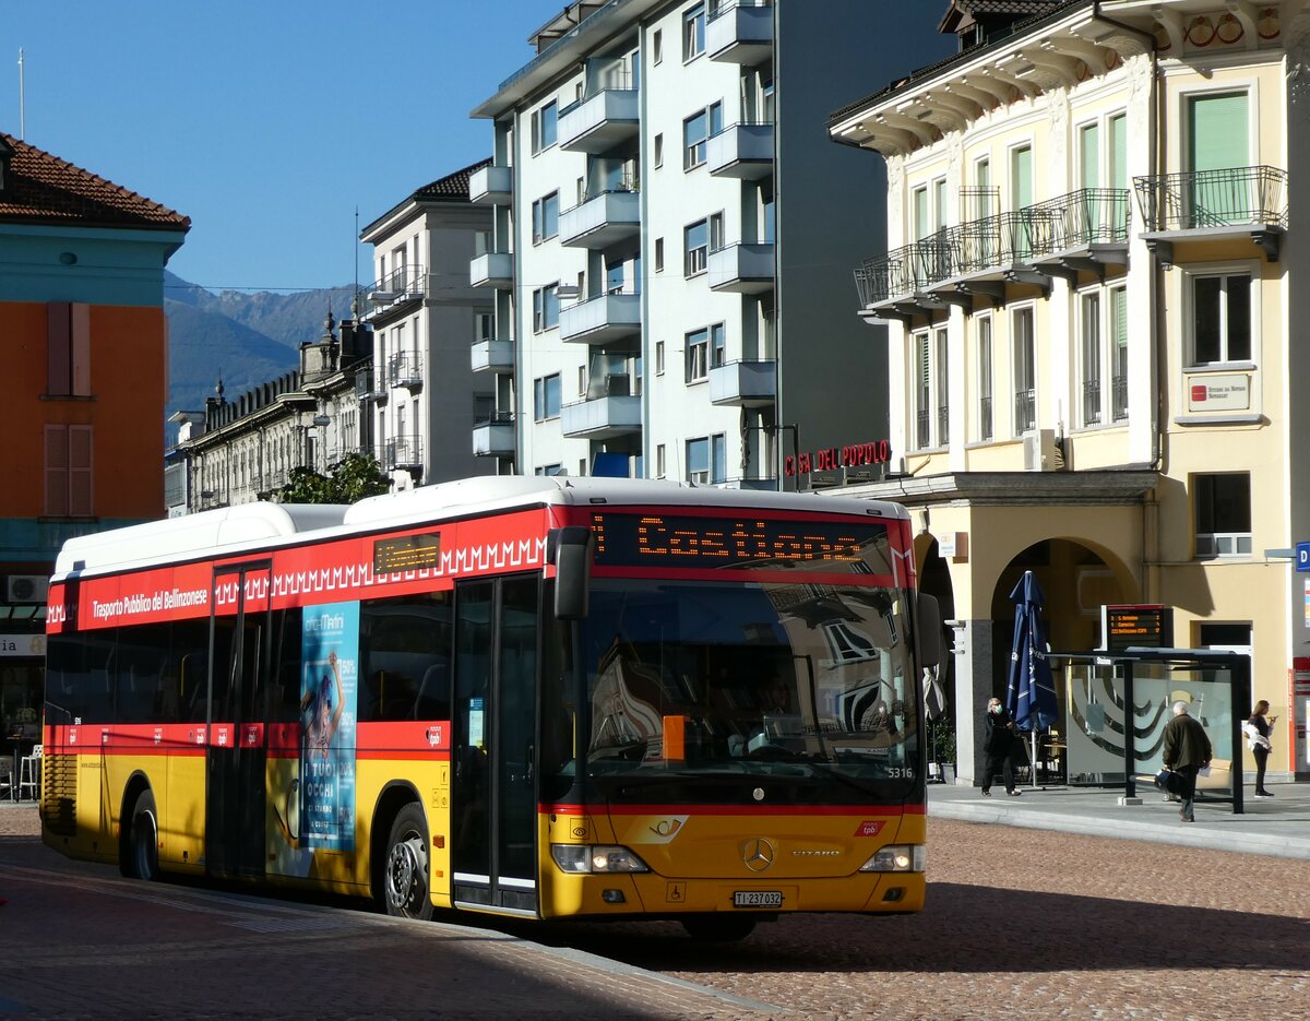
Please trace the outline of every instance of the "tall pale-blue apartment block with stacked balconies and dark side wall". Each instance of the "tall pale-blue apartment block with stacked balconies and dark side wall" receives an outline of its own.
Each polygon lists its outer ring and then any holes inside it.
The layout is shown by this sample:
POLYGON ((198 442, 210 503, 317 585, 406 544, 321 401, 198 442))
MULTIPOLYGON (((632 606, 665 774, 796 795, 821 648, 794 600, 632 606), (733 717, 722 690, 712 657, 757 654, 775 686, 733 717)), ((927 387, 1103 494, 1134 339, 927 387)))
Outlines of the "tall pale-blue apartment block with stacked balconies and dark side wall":
POLYGON ((861 0, 608 0, 531 37, 474 110, 494 223, 469 278, 512 355, 477 355, 517 436, 502 471, 798 488, 819 481, 794 471, 800 436, 886 436, 883 346, 832 271, 882 231, 880 203, 849 201, 878 170, 810 140, 869 67, 946 51, 910 52, 912 21, 861 0), (783 84, 785 64, 824 73, 783 84))

